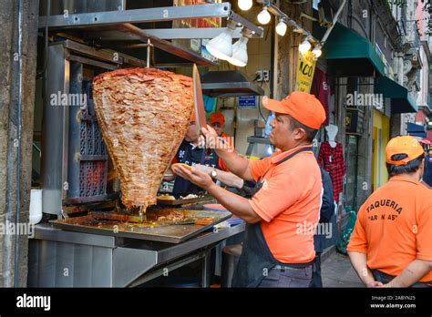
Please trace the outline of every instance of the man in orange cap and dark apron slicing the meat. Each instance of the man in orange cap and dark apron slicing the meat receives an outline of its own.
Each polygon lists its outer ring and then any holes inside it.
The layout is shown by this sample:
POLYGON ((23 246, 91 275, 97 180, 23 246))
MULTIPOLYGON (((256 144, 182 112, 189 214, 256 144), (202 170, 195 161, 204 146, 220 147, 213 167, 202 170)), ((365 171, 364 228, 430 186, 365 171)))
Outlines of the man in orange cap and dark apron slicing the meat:
MULTIPOLYGON (((324 107, 313 95, 295 91, 282 101, 263 98, 274 111, 270 141, 281 151, 249 161, 216 141, 225 166, 258 191, 245 199, 213 184, 197 169, 174 172, 206 189, 226 209, 248 222, 234 287, 309 287, 312 282, 314 229, 319 220, 323 184, 311 142, 325 119, 324 107)), ((202 128, 206 138, 219 139, 202 128)))

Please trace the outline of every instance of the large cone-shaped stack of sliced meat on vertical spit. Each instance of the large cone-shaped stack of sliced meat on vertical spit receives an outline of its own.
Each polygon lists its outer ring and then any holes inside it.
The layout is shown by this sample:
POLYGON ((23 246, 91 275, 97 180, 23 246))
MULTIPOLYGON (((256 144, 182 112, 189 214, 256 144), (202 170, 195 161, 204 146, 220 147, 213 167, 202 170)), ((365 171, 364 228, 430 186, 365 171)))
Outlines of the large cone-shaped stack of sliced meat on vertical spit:
POLYGON ((189 127, 192 95, 190 77, 159 69, 118 69, 93 80, 98 124, 126 207, 156 204, 163 173, 189 127))

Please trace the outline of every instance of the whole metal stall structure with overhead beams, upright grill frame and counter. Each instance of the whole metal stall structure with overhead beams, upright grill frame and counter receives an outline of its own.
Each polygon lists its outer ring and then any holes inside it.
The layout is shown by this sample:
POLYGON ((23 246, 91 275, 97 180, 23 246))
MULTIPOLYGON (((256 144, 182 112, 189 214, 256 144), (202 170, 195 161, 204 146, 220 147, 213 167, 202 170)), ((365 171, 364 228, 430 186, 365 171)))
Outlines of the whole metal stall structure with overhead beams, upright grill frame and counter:
MULTIPOLYGON (((229 3, 42 16, 39 19, 39 28, 47 27, 53 34, 70 36, 67 38, 73 36, 71 30, 85 31, 87 35, 95 35, 102 40, 111 38, 108 41, 112 40, 112 36, 121 34, 122 37, 118 38, 120 40, 140 40, 146 46, 150 41, 152 46, 172 55, 198 65, 211 66, 217 63, 198 53, 175 46, 167 39, 211 38, 221 32, 221 28, 145 30, 133 23, 215 16, 230 18, 251 30, 254 37, 262 36, 262 28, 232 13, 229 3), (107 29, 108 32, 101 32, 107 29), (162 33, 165 33, 165 36, 162 33)), ((240 37, 240 34, 239 27, 236 36, 240 37)), ((79 81, 82 81, 84 65, 96 66, 99 71, 113 70, 121 66, 142 67, 149 63, 117 50, 87 46, 81 39, 56 42, 48 47, 46 53, 49 58, 46 66, 46 105, 41 158, 43 212, 60 218, 65 203, 88 203, 98 199, 105 201, 113 196, 107 193, 81 199, 76 195, 67 195, 68 181, 75 179, 74 183, 77 182, 77 160, 103 161, 107 156, 84 155, 76 158, 75 154, 79 154, 77 130, 71 131, 71 126, 79 119, 79 107, 53 106, 50 104, 50 97, 52 94, 79 93, 82 88, 79 81)), ((76 188, 74 191, 77 193, 76 188)), ((242 233, 244 226, 241 224, 229 229, 202 232, 197 237, 173 245, 160 241, 58 230, 46 224, 36 225, 35 238, 29 243, 28 284, 45 287, 135 286, 159 276, 163 272, 162 265, 163 268, 174 270, 191 261, 203 260, 202 286, 206 287, 210 282, 211 249, 222 240, 242 233), (128 261, 124 261, 125 259, 128 261), (65 274, 65 269, 68 274, 65 274)))

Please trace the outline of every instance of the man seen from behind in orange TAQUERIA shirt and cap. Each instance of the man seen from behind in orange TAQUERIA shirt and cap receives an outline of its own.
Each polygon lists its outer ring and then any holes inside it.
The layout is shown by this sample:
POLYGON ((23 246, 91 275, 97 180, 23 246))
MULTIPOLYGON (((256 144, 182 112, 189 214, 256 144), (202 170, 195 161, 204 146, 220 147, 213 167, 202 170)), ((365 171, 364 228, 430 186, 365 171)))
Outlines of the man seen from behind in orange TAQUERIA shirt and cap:
POLYGON ((390 180, 365 201, 347 247, 367 287, 432 286, 432 195, 420 183, 425 154, 416 138, 386 146, 390 180))

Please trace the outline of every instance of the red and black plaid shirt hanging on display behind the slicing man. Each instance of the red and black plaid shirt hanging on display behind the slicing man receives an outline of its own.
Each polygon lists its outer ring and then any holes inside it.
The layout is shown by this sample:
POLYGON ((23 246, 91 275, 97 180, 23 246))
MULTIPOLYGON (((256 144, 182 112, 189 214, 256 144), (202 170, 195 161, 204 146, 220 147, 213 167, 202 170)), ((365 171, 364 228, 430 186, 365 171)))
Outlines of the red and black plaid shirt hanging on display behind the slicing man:
POLYGON ((336 142, 336 146, 332 148, 329 142, 323 142, 318 155, 318 163, 329 172, 333 182, 334 200, 338 203, 339 194, 344 190, 345 160, 342 144, 336 142))

